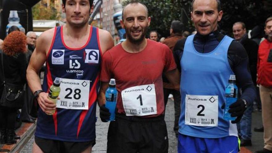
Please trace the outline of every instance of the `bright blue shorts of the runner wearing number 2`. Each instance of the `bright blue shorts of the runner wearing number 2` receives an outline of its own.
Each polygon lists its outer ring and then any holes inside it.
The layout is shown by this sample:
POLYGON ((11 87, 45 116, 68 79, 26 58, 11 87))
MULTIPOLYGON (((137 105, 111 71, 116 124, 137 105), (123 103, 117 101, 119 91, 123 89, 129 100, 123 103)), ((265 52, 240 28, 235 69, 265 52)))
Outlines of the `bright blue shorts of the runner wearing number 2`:
POLYGON ((237 153, 238 137, 196 138, 178 135, 178 153, 237 153))

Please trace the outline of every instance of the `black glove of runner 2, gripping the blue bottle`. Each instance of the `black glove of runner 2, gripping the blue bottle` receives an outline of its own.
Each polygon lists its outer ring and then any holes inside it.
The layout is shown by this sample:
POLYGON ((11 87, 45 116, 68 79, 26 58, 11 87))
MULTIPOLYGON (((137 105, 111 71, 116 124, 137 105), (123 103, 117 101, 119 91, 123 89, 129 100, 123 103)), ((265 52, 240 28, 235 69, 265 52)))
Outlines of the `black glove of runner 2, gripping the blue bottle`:
POLYGON ((237 101, 230 105, 228 113, 231 117, 236 117, 236 120, 232 121, 232 124, 238 123, 246 110, 246 105, 242 99, 237 99, 237 101))

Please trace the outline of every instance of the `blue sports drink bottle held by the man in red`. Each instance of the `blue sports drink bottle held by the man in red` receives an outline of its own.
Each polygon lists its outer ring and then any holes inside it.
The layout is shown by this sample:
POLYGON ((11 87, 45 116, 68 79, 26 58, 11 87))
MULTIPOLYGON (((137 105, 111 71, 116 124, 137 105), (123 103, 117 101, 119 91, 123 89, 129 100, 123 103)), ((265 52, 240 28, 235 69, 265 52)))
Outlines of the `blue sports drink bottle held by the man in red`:
POLYGON ((117 90, 115 79, 110 79, 108 84, 108 89, 106 90, 106 105, 105 107, 109 109, 110 119, 109 121, 114 121, 115 119, 115 107, 117 102, 117 90))

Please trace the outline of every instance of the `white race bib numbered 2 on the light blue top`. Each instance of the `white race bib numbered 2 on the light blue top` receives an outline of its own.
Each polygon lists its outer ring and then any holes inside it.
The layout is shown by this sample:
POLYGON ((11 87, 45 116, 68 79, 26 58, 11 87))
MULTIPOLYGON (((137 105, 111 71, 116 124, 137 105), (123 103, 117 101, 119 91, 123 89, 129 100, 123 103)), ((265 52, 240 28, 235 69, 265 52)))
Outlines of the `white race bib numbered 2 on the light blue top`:
POLYGON ((186 95, 185 124, 218 126, 218 96, 186 95))

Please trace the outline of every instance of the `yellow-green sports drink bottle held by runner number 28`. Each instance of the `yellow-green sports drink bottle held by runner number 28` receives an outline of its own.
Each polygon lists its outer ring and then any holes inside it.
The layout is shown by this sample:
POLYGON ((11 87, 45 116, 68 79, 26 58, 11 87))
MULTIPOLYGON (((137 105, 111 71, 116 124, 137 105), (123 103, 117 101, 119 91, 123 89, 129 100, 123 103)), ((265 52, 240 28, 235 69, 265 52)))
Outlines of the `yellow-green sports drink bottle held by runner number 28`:
MULTIPOLYGON (((60 78, 56 78, 49 89, 48 99, 52 100, 55 104, 57 103, 57 97, 61 92, 60 83, 61 83, 60 78)), ((52 113, 48 115, 53 115, 55 112, 56 109, 54 109, 52 113)))

